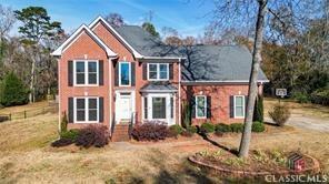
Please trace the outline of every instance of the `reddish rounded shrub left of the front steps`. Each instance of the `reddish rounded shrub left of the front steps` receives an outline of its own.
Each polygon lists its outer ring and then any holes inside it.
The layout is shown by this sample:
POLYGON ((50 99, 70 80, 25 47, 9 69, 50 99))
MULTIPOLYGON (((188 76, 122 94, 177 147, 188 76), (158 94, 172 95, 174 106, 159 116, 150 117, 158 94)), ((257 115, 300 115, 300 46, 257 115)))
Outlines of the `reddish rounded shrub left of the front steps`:
POLYGON ((109 131, 104 125, 89 125, 79 131, 76 145, 102 147, 109 143, 109 131))

